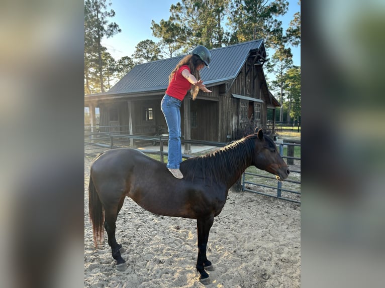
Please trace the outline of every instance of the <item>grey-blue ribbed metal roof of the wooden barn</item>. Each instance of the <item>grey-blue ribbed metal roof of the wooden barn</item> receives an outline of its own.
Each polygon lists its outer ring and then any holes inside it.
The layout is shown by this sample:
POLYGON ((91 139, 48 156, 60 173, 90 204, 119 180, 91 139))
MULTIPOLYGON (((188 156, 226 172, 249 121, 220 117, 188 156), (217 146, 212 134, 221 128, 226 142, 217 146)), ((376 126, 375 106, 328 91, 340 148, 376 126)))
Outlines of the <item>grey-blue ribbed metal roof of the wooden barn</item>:
MULTIPOLYGON (((210 50, 212 56, 210 69, 205 67, 201 70, 201 77, 204 83, 209 87, 235 79, 246 62, 250 51, 261 48, 261 51, 265 54, 263 40, 253 40, 210 50)), ((168 75, 184 56, 136 65, 108 92, 93 95, 130 94, 166 90, 168 75)), ((266 57, 266 55, 262 56, 266 57)))

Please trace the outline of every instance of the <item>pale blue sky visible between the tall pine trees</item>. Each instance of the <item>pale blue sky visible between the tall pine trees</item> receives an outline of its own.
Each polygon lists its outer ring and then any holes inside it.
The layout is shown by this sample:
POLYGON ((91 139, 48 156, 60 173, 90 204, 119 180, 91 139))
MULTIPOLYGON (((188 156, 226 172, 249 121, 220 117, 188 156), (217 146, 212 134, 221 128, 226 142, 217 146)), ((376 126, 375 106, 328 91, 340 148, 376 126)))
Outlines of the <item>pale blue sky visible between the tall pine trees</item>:
MULTIPOLYGON (((159 41, 152 36, 151 21, 159 23, 162 19, 168 20, 170 6, 177 2, 177 0, 112 0, 111 9, 115 11, 116 15, 111 21, 116 22, 122 32, 109 39, 103 39, 103 46, 107 47, 115 60, 118 60, 124 56, 131 57, 135 46, 140 41, 146 39, 159 41)), ((284 30, 293 19, 294 14, 301 9, 298 0, 290 0, 289 3, 288 12, 280 19, 284 30)), ((292 47, 292 52, 294 64, 300 66, 301 47, 292 47)), ((272 52, 268 52, 268 56, 271 57, 272 52)))

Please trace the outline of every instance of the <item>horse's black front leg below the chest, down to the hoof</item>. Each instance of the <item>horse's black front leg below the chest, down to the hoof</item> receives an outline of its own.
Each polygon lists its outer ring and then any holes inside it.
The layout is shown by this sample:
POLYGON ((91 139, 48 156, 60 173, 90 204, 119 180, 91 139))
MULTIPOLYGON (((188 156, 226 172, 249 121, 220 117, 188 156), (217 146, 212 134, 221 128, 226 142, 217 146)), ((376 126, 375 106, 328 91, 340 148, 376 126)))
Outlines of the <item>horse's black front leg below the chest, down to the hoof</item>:
POLYGON ((197 270, 201 274, 199 280, 203 284, 209 284, 210 278, 209 274, 205 271, 205 268, 209 271, 214 270, 211 262, 207 259, 206 249, 207 241, 209 240, 209 233, 211 226, 213 226, 214 216, 211 215, 204 219, 197 220, 198 227, 198 260, 197 260, 197 270))

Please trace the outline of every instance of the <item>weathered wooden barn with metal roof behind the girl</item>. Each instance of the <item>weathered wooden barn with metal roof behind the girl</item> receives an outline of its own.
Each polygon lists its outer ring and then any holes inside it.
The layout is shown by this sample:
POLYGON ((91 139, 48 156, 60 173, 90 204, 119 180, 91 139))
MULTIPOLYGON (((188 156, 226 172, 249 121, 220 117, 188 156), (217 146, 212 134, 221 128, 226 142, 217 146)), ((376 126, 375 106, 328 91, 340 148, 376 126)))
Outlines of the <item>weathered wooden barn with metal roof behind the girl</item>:
MULTIPOLYGON (((263 64, 263 40, 253 40, 210 50, 210 68, 201 70, 204 84, 212 93, 189 93, 180 108, 182 136, 186 139, 228 142, 247 127, 266 127, 267 109, 279 102, 270 93, 263 64)), ((136 65, 108 92, 84 96, 91 126, 99 107, 101 131, 154 135, 157 127, 167 127, 160 101, 168 75, 184 57, 136 65)), ((164 131, 166 132, 166 131, 164 131)))

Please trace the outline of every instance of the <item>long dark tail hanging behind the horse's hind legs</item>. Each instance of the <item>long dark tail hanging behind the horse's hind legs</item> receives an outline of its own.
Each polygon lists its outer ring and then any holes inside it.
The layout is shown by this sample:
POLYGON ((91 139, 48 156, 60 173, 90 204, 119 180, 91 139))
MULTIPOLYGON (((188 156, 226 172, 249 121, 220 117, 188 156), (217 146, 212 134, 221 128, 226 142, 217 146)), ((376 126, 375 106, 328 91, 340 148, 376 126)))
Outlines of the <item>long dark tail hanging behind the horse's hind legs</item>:
POLYGON ((93 230, 93 243, 95 247, 98 247, 98 242, 102 244, 103 232, 104 232, 104 211, 103 205, 100 201, 99 195, 93 184, 92 177, 89 177, 88 186, 88 209, 89 218, 92 222, 93 230))

